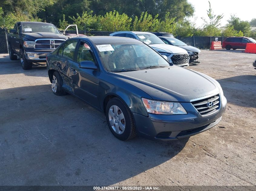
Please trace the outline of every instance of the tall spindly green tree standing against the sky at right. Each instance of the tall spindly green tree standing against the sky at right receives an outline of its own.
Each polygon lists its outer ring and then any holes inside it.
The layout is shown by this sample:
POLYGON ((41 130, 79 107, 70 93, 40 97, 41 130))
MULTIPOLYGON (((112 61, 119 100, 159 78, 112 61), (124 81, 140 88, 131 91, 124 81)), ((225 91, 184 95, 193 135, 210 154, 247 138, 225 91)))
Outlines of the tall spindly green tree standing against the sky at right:
MULTIPOLYGON (((209 1, 208 1, 209 2, 209 1)), ((215 15, 209 2, 209 9, 207 10, 208 19, 201 18, 204 21, 204 28, 201 30, 202 36, 220 36, 221 30, 218 29, 220 21, 224 17, 223 14, 215 15)))

